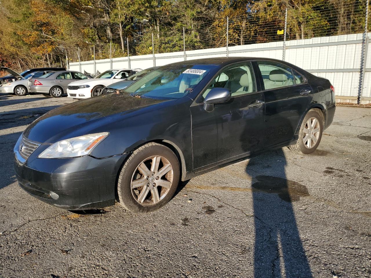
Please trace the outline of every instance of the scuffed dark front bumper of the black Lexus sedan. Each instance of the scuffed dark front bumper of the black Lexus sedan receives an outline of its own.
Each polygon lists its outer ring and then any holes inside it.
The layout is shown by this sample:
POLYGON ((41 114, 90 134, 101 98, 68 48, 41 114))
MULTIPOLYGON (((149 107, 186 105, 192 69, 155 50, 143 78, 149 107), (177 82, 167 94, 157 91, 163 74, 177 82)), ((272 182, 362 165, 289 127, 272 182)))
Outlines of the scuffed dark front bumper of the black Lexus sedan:
POLYGON ((68 210, 115 204, 116 177, 126 155, 42 159, 37 156, 47 145, 40 145, 22 161, 18 147, 14 148, 16 178, 19 186, 33 197, 68 210), (58 194, 58 199, 53 199, 50 191, 58 194))

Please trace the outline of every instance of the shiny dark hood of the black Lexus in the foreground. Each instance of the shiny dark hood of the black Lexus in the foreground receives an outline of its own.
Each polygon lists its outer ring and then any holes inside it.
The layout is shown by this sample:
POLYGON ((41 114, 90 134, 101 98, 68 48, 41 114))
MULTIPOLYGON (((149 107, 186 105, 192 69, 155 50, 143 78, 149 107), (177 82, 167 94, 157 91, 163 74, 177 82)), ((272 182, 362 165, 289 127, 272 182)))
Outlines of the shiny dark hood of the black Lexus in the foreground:
MULTIPOLYGON (((145 113, 150 106, 161 106, 174 100, 139 98, 107 94, 79 100, 50 110, 29 125, 23 135, 34 142, 55 143, 85 134, 103 132, 106 125, 145 113)), ((156 107, 160 109, 160 107, 156 107)))

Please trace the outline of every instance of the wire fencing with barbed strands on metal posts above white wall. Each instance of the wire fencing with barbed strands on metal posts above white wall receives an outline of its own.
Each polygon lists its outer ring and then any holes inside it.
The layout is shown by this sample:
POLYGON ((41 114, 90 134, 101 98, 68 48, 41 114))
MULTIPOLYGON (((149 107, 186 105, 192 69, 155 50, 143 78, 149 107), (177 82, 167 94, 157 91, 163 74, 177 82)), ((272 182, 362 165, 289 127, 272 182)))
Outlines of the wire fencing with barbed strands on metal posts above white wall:
MULTIPOLYGON (((363 33, 366 0, 323 0, 316 6, 266 7, 264 12, 216 19, 202 24, 175 24, 164 31, 123 37, 122 43, 96 43, 70 49, 69 62, 112 59, 244 44, 363 33)), ((370 25, 370 24, 368 24, 370 25)))

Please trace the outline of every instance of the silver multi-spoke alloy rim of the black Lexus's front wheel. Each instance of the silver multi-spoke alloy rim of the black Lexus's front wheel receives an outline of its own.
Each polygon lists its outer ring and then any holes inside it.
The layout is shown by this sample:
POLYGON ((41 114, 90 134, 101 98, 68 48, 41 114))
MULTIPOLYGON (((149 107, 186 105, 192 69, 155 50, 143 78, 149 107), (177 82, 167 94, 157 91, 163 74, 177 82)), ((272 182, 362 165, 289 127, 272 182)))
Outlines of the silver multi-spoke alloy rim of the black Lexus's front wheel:
POLYGON ((144 159, 131 178, 131 193, 141 205, 154 205, 165 198, 173 184, 173 166, 164 156, 144 159))

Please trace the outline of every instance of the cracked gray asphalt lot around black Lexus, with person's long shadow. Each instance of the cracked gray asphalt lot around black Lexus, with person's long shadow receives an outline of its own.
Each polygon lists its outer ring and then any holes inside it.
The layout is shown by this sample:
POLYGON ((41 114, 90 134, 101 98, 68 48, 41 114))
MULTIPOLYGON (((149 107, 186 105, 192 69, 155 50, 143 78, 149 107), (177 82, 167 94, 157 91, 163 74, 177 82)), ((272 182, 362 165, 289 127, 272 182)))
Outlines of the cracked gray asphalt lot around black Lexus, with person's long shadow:
POLYGON ((26 126, 76 100, 0 94, 0 277, 371 277, 371 109, 337 107, 318 150, 266 152, 147 215, 91 215, 17 185, 26 126))

